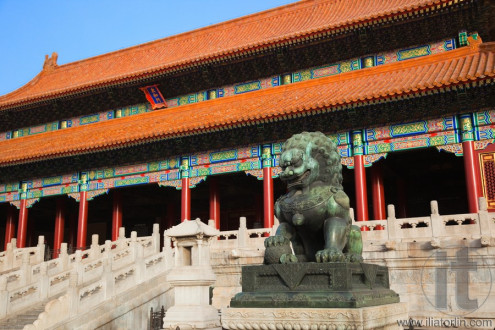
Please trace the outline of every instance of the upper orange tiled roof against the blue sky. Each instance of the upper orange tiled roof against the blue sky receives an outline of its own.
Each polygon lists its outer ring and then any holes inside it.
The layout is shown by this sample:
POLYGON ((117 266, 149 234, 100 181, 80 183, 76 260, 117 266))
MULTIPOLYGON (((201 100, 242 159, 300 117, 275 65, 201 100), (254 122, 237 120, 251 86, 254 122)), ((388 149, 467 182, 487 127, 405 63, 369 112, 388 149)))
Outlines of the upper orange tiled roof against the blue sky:
POLYGON ((0 110, 452 3, 452 0, 302 0, 78 62, 57 66, 56 60, 49 60, 51 65, 29 83, 0 96, 0 110))

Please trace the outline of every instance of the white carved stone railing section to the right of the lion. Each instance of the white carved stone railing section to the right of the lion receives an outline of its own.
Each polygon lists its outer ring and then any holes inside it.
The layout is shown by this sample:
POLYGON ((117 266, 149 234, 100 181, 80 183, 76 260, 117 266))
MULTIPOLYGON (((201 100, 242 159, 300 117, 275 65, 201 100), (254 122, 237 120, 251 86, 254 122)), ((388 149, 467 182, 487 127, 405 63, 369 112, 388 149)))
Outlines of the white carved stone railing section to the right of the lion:
POLYGON ((480 198, 478 213, 440 215, 438 203, 432 201, 431 215, 428 217, 395 217, 395 208, 388 206, 387 220, 353 221, 362 231, 363 241, 387 242, 392 248, 393 242, 430 241, 437 247, 438 239, 461 238, 480 239, 482 246, 490 244, 495 237, 495 213, 487 211, 485 198, 480 198))

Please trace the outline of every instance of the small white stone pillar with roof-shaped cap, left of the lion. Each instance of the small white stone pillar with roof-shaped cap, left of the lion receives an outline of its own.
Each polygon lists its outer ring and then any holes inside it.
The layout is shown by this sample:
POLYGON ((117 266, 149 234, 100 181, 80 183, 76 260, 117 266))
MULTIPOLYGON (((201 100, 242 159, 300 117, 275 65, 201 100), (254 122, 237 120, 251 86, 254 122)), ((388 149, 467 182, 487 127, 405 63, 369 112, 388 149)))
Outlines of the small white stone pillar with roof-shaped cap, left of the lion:
POLYGON ((210 266, 209 243, 218 230, 199 219, 185 221, 165 231, 174 242, 175 266, 167 275, 174 288, 175 304, 163 319, 164 329, 218 329, 218 310, 209 304, 216 276, 210 266))

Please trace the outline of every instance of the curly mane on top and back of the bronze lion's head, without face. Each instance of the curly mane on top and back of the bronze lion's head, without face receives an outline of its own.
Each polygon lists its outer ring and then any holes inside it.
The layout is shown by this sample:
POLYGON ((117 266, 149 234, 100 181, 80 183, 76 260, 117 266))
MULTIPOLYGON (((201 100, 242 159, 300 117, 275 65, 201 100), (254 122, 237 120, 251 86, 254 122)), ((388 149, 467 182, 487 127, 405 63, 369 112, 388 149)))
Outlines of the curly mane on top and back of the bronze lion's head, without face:
POLYGON ((321 132, 302 132, 288 139, 282 145, 282 152, 289 149, 301 149, 305 154, 318 161, 320 167, 319 180, 342 189, 342 164, 337 146, 321 132), (311 149, 307 150, 306 146, 311 149))

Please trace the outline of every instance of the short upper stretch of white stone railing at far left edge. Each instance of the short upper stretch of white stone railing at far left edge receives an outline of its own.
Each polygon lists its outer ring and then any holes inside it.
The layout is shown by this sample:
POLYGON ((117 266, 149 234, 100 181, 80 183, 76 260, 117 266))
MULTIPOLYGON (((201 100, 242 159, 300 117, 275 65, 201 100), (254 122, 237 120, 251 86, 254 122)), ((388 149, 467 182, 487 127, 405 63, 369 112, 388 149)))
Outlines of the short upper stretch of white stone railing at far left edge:
POLYGON ((29 248, 17 248, 17 241, 13 238, 10 243, 7 243, 7 249, 0 253, 0 274, 5 274, 12 270, 16 270, 23 262, 23 258, 28 256, 30 265, 42 263, 45 259, 45 238, 38 237, 38 245, 29 248))

